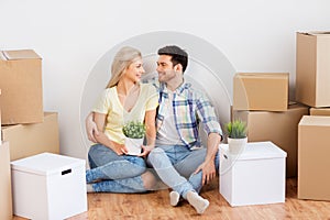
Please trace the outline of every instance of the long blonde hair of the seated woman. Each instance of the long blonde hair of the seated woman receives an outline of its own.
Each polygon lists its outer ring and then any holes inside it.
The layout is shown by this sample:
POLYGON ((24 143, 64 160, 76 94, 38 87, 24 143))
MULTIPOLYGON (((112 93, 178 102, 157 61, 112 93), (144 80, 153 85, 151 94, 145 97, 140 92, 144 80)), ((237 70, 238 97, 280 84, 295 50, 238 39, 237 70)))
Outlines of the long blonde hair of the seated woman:
POLYGON ((131 46, 124 46, 117 52, 111 65, 111 78, 107 88, 118 85, 125 68, 128 68, 136 58, 141 58, 141 52, 131 46))

